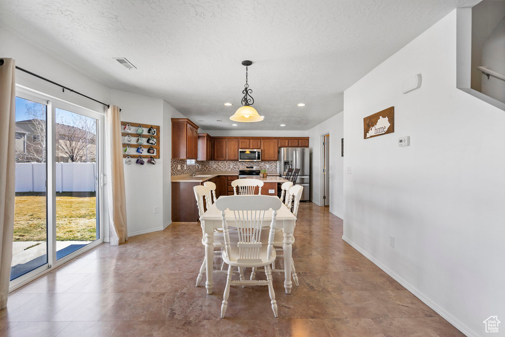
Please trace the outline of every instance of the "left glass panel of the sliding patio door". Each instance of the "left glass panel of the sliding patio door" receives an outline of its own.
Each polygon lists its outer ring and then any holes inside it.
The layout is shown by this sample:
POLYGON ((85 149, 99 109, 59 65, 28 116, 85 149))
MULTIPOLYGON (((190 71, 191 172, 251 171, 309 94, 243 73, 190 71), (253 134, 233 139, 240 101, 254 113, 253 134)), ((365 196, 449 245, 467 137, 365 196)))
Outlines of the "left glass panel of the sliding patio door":
POLYGON ((16 197, 11 280, 47 266, 47 101, 16 97, 16 197))

